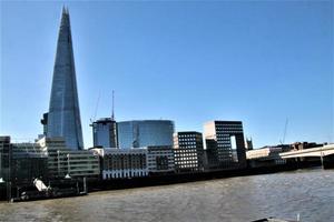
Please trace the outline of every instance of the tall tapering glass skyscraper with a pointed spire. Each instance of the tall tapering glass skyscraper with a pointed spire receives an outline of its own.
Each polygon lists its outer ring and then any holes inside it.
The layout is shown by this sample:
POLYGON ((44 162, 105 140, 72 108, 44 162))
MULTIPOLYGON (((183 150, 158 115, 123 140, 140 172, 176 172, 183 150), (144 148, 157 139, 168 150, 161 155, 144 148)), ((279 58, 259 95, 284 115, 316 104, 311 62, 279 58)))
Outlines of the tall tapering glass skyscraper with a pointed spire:
POLYGON ((66 8, 62 8, 57 42, 47 137, 62 137, 68 148, 84 149, 70 18, 66 8))

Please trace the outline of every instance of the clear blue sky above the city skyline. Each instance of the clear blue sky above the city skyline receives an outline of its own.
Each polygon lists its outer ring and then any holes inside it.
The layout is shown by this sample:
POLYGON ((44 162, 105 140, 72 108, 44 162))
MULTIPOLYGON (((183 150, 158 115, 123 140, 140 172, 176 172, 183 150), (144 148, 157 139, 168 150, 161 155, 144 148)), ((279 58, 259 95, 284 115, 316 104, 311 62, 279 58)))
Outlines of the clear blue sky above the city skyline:
POLYGON ((0 134, 30 140, 48 111, 69 7, 85 147, 90 119, 242 120, 255 147, 334 142, 333 1, 1 1, 0 134), (99 102, 98 98, 100 94, 99 102))

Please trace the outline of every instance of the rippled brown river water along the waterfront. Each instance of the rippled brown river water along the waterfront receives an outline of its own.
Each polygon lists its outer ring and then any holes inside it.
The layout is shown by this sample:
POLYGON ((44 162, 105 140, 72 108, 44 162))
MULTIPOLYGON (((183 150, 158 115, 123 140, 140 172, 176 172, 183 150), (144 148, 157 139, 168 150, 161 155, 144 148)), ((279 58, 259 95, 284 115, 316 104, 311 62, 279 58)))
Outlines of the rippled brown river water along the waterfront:
POLYGON ((0 221, 334 221, 334 170, 230 178, 0 203, 0 221))

